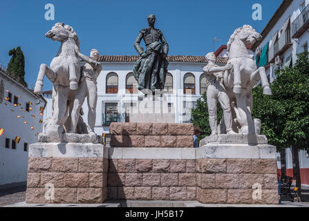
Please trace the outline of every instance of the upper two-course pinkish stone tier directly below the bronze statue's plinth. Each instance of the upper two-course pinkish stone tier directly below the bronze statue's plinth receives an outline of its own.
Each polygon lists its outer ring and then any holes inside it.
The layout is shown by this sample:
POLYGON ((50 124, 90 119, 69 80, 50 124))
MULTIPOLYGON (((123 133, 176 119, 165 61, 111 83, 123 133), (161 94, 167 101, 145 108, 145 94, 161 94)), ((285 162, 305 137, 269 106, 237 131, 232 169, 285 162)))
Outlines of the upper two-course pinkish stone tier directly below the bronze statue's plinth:
POLYGON ((111 123, 111 147, 193 147, 193 124, 111 123))

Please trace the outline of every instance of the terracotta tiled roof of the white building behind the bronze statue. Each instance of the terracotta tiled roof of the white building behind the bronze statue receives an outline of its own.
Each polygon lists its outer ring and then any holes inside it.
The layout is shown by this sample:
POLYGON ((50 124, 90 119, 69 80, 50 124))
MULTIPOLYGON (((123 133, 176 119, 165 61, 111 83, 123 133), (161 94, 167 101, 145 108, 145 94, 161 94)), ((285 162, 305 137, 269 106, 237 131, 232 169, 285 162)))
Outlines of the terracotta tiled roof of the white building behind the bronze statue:
MULTIPOLYGON (((97 61, 105 62, 135 62, 138 60, 138 55, 100 55, 97 61)), ((171 62, 189 62, 189 63, 207 63, 203 56, 191 56, 191 55, 169 55, 167 61, 171 62)), ((226 57, 218 57, 216 63, 225 64, 227 62, 226 57)))

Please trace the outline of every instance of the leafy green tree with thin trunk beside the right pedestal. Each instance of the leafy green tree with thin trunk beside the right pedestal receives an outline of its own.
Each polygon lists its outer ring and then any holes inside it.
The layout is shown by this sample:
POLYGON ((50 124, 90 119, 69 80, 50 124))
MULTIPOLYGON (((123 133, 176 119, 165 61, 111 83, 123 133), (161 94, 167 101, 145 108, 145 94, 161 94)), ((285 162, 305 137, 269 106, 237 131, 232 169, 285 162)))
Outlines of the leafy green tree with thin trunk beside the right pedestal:
POLYGON ((277 71, 271 84, 272 96, 254 88, 253 117, 262 121, 261 133, 277 151, 292 147, 293 175, 301 197, 299 150, 309 147, 309 59, 308 52, 298 55, 292 67, 277 71))

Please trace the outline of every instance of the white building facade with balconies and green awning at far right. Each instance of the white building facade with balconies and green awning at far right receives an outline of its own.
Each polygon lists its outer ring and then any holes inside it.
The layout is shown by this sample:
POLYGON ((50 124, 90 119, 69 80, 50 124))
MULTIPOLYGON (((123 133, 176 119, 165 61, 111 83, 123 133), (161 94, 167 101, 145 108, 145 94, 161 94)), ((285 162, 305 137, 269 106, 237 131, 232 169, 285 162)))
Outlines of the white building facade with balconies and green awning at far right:
MULTIPOLYGON (((276 79, 276 70, 293 66, 297 54, 308 51, 309 41, 309 0, 284 0, 274 13, 267 26, 261 32, 262 39, 252 46, 256 63, 265 66, 270 83, 276 79), (256 48, 260 48, 257 50, 256 48)), ((281 158, 278 154, 278 166, 281 158)), ((292 152, 285 151, 287 175, 292 174, 292 152)), ((299 151, 301 182, 309 184, 309 156, 306 151, 299 151)))

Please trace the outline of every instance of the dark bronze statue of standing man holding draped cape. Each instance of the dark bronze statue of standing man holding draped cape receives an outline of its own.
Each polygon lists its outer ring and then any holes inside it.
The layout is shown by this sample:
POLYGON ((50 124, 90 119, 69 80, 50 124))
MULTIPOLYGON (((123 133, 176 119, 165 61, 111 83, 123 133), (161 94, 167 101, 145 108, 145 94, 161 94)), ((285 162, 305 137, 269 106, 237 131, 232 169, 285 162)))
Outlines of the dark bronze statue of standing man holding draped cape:
POLYGON ((154 28, 156 17, 149 15, 147 20, 149 27, 140 30, 140 34, 134 42, 134 47, 140 58, 133 66, 133 75, 138 81, 139 90, 149 89, 154 93, 156 89, 162 90, 165 86, 167 66, 169 65, 167 61, 169 45, 161 30, 154 28), (142 39, 147 47, 145 51, 140 46, 142 39))

